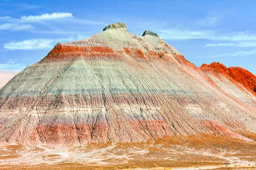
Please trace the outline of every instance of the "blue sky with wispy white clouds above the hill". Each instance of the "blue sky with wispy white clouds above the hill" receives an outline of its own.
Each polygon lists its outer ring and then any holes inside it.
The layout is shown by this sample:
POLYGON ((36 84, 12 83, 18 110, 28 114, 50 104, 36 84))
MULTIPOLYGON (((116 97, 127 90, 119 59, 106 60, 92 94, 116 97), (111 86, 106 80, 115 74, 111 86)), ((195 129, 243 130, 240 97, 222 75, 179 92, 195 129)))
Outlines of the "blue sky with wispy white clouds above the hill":
POLYGON ((200 66, 222 62, 256 74, 256 1, 0 0, 0 70, 23 70, 58 42, 91 37, 122 21, 158 33, 200 66))

